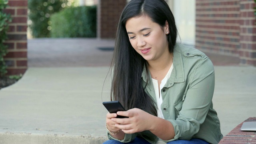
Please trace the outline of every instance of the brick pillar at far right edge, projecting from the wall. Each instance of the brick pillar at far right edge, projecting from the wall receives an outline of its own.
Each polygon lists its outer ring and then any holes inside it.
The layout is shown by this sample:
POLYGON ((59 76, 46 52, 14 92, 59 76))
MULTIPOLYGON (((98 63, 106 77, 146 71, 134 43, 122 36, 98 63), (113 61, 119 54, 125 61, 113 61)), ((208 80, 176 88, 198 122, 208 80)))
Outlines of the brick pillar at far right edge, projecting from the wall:
POLYGON ((240 0, 240 49, 241 64, 256 66, 256 21, 254 0, 240 0))

